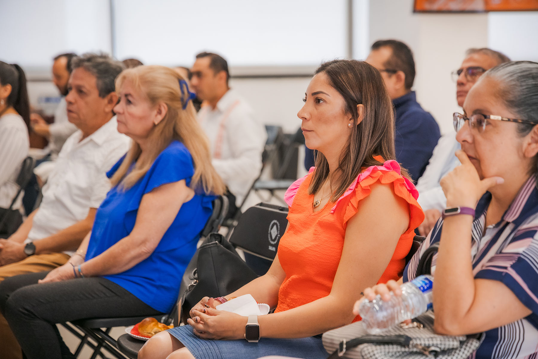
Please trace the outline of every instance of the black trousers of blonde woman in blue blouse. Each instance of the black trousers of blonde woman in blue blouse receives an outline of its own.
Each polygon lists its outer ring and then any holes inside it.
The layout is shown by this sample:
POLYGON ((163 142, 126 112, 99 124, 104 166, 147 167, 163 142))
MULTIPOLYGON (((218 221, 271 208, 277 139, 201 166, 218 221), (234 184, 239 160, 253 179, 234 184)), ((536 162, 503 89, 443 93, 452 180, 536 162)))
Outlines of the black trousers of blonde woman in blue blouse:
POLYGON ((0 311, 28 359, 74 358, 56 323, 160 314, 108 279, 77 278, 37 284, 46 274, 22 274, 0 283, 0 311))

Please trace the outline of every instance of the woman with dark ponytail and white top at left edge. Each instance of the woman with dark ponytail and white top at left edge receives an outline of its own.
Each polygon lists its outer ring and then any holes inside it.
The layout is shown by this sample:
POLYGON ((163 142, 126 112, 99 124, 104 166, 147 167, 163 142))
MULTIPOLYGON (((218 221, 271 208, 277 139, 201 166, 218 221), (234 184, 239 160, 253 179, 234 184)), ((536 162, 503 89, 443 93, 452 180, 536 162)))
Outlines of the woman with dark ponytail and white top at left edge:
POLYGON ((6 216, 5 224, 0 227, 0 238, 9 237, 22 223, 21 197, 10 212, 8 208, 19 191, 16 179, 28 156, 29 122, 24 71, 18 65, 0 61, 0 221, 6 216))

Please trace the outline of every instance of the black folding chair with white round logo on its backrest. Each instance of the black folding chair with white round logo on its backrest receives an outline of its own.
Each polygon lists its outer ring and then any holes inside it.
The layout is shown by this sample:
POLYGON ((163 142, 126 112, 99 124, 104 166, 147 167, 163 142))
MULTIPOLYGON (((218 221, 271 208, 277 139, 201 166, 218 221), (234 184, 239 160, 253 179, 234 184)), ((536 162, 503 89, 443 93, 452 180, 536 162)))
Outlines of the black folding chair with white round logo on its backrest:
MULTIPOLYGON (((237 227, 233 231, 230 243, 233 244, 234 247, 245 251, 245 259, 247 258, 247 255, 252 256, 250 264, 249 261, 246 263, 255 272, 256 268, 259 266, 256 259, 261 259, 264 262, 268 262, 270 265, 277 255, 280 237, 284 234, 288 223, 286 219, 287 211, 288 209, 285 207, 274 206, 268 203, 258 203, 258 205, 245 211, 241 216, 237 227)), ((196 258, 193 257, 193 260, 187 267, 190 268, 191 271, 196 268, 195 259, 196 258)), ((192 280, 189 277, 189 274, 190 272, 187 269, 183 276, 183 291, 187 287, 185 283, 190 283, 192 280)), ((261 274, 258 273, 258 275, 261 274)), ((182 290, 180 290, 180 296, 181 293, 183 293, 182 290)), ((174 318, 174 325, 178 325, 178 322, 178 318, 174 318)), ((117 341, 119 351, 132 359, 137 358, 138 351, 143 345, 143 341, 134 339, 129 334, 120 336, 117 341)))

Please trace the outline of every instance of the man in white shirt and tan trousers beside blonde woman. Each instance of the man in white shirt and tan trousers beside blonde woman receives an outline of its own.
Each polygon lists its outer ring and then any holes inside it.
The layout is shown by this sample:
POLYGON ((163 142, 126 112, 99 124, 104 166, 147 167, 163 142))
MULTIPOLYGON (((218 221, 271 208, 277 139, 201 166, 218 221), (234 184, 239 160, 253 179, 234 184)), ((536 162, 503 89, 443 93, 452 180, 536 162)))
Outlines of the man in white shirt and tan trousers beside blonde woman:
MULTIPOLYGON (((130 145, 130 139, 117 131, 112 112, 118 101, 114 81, 122 69, 107 55, 73 59, 67 116, 79 130, 63 145, 39 208, 8 240, 0 240, 0 280, 67 263, 90 231, 110 188, 106 172, 130 145)), ((21 357, 3 316, 0 338, 0 358, 21 357)))

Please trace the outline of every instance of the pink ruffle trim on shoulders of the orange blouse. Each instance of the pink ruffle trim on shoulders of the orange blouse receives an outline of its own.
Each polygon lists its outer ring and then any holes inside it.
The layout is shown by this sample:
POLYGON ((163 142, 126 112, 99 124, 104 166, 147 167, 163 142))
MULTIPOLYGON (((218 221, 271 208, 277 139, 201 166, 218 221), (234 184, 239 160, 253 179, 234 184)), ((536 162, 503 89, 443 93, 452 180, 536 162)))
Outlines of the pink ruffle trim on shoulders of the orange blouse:
MULTIPOLYGON (((284 201, 287 203, 288 206, 291 206, 293 203, 293 199, 295 197, 295 194, 297 193, 297 190, 299 189, 299 186, 301 186, 302 182, 305 181, 306 177, 314 172, 315 167, 310 167, 310 171, 308 171, 308 174, 305 177, 302 177, 295 182, 289 188, 287 189, 286 193, 284 194, 284 201)), ((380 171, 380 172, 396 172, 398 174, 401 174, 400 171, 400 164, 395 160, 388 160, 385 161, 383 166, 370 166, 366 168, 366 170, 362 173, 360 173, 357 177, 357 179, 349 186, 348 189, 344 192, 344 194, 336 201, 334 207, 331 209, 331 213, 333 213, 336 209, 336 206, 338 206, 338 203, 345 198, 345 196, 348 196, 353 191, 355 191, 355 188, 359 184, 359 182, 363 181, 366 177, 372 174, 372 172, 380 171)), ((404 184, 407 188, 407 191, 413 196, 413 198, 416 200, 419 198, 419 191, 416 190, 415 185, 413 185, 413 182, 408 180, 404 177, 404 184)))

